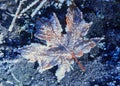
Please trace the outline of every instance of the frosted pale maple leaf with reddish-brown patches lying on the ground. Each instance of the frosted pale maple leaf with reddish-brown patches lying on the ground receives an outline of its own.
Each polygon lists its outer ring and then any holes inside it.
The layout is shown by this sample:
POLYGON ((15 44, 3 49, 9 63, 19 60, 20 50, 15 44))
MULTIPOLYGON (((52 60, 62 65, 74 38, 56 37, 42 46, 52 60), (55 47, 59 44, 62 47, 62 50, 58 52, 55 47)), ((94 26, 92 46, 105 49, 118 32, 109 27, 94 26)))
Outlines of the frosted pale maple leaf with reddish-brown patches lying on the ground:
POLYGON ((77 58, 90 52, 91 48, 101 40, 101 38, 85 38, 92 22, 85 22, 82 12, 74 7, 67 10, 66 34, 61 33, 62 27, 55 13, 50 19, 41 18, 40 23, 41 27, 34 36, 46 40, 47 45, 32 43, 24 46, 19 49, 21 55, 29 62, 37 61, 41 73, 58 65, 55 73, 58 82, 64 78, 66 72, 71 70, 74 60, 84 71, 77 58))

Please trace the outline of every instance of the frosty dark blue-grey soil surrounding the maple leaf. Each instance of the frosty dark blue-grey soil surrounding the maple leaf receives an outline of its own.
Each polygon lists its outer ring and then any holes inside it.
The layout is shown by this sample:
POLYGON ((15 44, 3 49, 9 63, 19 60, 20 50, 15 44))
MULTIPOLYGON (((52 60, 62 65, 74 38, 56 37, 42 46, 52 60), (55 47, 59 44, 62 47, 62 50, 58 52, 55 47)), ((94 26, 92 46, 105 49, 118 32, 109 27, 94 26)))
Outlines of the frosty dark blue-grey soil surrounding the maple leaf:
POLYGON ((58 83, 55 77, 57 66, 41 74, 37 70, 37 62, 28 63, 23 57, 18 57, 20 53, 16 49, 33 42, 43 43, 31 37, 39 28, 36 20, 43 16, 49 18, 55 12, 62 27, 65 27, 67 6, 63 4, 61 9, 57 9, 51 5, 41 9, 42 14, 35 18, 22 17, 10 33, 8 27, 12 16, 9 13, 15 13, 17 4, 13 0, 0 0, 0 86, 120 86, 119 0, 75 0, 75 4, 86 21, 94 22, 87 37, 104 36, 105 39, 79 59, 86 68, 84 73, 74 64, 74 70, 66 73, 58 83), (26 26, 25 30, 20 31, 23 26, 26 26))

